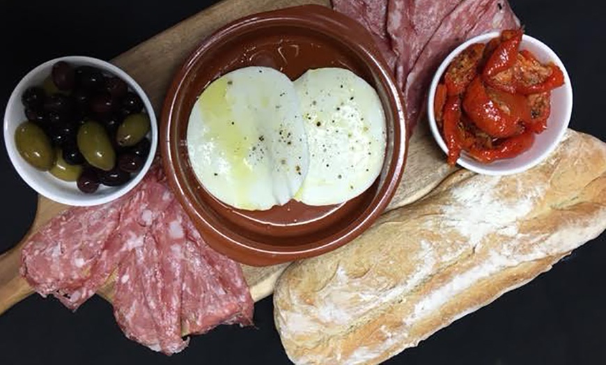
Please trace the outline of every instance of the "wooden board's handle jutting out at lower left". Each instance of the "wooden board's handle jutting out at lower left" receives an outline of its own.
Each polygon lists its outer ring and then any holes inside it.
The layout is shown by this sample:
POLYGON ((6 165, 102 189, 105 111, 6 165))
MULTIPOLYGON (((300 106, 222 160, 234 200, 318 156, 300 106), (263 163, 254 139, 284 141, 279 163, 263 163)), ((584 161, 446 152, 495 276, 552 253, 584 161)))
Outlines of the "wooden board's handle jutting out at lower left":
POLYGON ((33 289, 19 273, 22 244, 0 256, 0 314, 21 302, 33 289))

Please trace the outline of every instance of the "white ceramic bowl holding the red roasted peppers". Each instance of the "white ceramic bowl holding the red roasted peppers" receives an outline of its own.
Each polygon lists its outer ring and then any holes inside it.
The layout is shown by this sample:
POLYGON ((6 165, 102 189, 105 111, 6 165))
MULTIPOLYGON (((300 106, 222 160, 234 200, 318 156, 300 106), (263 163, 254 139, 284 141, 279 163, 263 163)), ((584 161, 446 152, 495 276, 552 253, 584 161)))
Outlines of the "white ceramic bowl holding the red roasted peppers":
MULTIPOLYGON (((442 139, 442 134, 440 134, 433 113, 435 89, 440 83, 440 79, 442 79, 442 75, 446 71, 446 68, 448 68, 453 59, 463 52, 464 49, 474 43, 488 43, 492 38, 497 38, 499 36, 499 32, 492 32, 467 40, 467 42, 451 52, 451 54, 444 59, 440 68, 437 69, 437 72, 435 72, 429 89, 427 111, 433 137, 446 154, 448 153, 448 148, 446 147, 446 143, 444 143, 444 139, 442 139)), ((510 175, 512 173, 526 171, 545 160, 545 157, 552 153, 562 137, 564 137, 564 133, 566 133, 568 123, 570 123, 570 116, 573 112, 573 88, 570 84, 570 77, 568 77, 568 72, 566 72, 564 63, 561 62, 557 54, 555 54, 550 47, 547 47, 543 42, 532 38, 531 36, 524 35, 520 49, 529 50, 542 63, 549 61, 554 62, 562 72, 564 72, 564 86, 552 91, 551 115, 549 119, 547 119, 547 130, 541 134, 536 134, 534 144, 529 150, 511 159, 483 164, 463 152, 458 159, 457 164, 465 167, 465 169, 485 175, 510 175)))

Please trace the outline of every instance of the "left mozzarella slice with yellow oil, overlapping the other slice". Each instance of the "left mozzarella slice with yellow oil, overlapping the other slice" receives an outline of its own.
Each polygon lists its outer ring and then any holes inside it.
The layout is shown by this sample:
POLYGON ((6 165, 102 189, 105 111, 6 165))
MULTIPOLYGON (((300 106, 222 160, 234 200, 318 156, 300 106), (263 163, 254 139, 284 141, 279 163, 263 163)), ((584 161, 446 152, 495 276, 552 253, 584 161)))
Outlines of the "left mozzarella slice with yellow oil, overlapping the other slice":
POLYGON ((213 81, 189 116, 187 149, 197 178, 219 201, 244 210, 287 203, 309 166, 293 82, 261 67, 213 81))

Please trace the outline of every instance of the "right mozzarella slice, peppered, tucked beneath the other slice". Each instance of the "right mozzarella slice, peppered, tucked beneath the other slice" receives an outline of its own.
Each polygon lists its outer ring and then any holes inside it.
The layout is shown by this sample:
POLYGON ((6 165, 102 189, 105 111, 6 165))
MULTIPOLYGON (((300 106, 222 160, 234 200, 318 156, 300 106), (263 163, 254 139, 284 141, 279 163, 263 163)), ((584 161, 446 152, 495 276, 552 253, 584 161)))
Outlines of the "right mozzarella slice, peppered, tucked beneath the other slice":
POLYGON ((309 70, 295 81, 309 143, 309 172, 295 199, 331 205, 374 183, 385 157, 385 115, 375 89, 342 68, 309 70))

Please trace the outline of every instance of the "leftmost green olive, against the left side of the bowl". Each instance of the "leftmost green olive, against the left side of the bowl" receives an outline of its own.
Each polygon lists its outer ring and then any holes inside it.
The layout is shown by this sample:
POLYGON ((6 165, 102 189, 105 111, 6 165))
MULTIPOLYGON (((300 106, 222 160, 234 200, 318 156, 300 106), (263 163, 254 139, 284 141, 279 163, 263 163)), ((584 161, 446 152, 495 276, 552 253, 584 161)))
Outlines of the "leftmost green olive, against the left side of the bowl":
POLYGON ((50 139, 38 125, 21 123, 15 131, 15 145, 21 157, 36 169, 47 171, 53 166, 55 154, 50 139))

